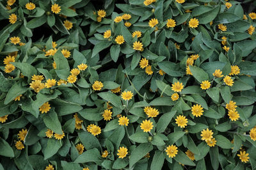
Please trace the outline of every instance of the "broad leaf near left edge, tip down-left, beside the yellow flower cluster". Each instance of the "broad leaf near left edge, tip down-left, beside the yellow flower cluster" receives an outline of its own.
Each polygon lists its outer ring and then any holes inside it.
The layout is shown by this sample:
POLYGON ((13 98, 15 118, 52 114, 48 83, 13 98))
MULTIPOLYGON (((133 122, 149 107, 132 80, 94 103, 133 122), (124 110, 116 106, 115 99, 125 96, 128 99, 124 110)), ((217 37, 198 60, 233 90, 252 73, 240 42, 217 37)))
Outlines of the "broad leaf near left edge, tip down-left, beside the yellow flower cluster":
POLYGON ((15 83, 13 84, 12 88, 10 88, 10 90, 8 91, 5 100, 4 100, 4 104, 7 105, 10 102, 12 102, 12 100, 14 100, 16 97, 19 97, 19 95, 22 95, 23 93, 25 93, 27 91, 26 87, 22 87, 20 83, 15 83))

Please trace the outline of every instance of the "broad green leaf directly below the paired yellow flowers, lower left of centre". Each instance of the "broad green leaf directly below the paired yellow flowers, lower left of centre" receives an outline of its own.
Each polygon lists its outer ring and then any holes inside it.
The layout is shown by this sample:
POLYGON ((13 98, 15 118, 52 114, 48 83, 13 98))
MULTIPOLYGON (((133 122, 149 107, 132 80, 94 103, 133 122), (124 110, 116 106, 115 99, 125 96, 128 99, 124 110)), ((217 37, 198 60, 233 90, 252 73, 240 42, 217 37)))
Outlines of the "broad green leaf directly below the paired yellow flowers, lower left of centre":
POLYGON ((101 151, 101 146, 99 140, 94 135, 88 132, 78 133, 78 137, 84 145, 86 150, 92 150, 93 148, 97 148, 97 150, 101 151))

